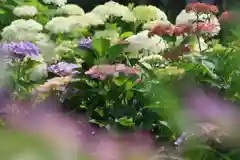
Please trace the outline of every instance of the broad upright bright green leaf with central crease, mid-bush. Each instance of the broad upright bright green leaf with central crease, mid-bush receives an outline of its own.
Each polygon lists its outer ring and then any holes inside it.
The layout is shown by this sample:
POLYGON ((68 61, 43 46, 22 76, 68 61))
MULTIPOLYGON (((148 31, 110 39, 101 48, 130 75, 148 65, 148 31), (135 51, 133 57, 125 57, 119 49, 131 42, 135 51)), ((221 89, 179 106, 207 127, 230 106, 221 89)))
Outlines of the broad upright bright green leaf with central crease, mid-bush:
POLYGON ((103 38, 93 38, 92 48, 98 53, 99 57, 104 56, 110 47, 110 41, 103 38))

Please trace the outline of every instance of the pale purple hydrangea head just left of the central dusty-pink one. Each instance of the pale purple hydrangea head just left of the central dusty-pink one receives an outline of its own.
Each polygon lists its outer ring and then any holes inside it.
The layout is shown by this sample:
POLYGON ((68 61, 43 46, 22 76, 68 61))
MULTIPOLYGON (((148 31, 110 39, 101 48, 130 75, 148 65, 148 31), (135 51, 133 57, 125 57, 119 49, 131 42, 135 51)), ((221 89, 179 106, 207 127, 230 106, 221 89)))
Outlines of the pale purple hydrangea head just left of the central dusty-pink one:
POLYGON ((67 62, 59 62, 57 64, 51 65, 48 67, 48 71, 55 73, 59 76, 67 76, 74 73, 77 73, 77 71, 74 71, 74 69, 79 68, 78 65, 73 63, 67 63, 67 62))

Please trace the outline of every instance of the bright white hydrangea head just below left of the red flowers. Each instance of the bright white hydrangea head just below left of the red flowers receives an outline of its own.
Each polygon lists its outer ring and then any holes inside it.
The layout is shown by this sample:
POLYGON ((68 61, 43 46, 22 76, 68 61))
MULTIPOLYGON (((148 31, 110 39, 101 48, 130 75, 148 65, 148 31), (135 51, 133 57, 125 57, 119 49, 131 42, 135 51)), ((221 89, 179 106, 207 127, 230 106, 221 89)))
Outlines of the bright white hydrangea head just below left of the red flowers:
POLYGON ((126 39, 129 42, 126 52, 139 52, 146 50, 154 53, 160 53, 168 48, 168 44, 159 36, 148 37, 148 30, 139 32, 136 35, 130 36, 126 39))

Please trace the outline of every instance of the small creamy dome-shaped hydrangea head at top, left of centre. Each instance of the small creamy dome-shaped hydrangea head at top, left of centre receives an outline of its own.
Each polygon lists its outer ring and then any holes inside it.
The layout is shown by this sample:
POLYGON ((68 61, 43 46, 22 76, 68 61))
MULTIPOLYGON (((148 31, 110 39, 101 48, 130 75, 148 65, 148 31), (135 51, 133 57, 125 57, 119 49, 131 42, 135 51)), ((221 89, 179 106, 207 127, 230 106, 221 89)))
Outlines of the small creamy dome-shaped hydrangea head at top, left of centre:
POLYGON ((75 4, 66 4, 57 9, 57 13, 67 15, 84 15, 84 10, 75 4))

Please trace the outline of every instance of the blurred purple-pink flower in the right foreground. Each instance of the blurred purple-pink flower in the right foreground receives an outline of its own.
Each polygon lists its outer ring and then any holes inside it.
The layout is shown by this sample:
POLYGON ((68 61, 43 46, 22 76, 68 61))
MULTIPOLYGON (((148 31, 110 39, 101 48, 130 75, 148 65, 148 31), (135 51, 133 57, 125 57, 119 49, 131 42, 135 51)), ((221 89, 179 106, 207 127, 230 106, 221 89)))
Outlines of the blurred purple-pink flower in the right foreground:
POLYGON ((182 113, 188 120, 188 131, 194 132, 190 134, 214 140, 223 138, 227 143, 233 139, 234 143, 239 142, 240 110, 233 103, 221 99, 217 93, 193 89, 185 95, 183 104, 182 113))

